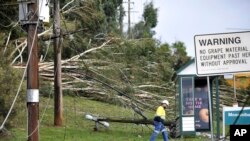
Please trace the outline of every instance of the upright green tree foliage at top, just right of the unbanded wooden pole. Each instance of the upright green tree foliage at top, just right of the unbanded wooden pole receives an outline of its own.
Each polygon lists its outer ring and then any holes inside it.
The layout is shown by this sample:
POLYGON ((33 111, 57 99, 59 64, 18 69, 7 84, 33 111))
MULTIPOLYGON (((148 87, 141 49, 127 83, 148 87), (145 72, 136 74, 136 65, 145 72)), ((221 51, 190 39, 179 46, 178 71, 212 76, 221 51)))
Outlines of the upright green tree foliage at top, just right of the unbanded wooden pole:
MULTIPOLYGON (((65 12, 64 16, 62 22, 64 30, 67 32, 84 30, 65 38, 62 58, 70 58, 84 52, 89 47, 90 40, 105 38, 107 34, 115 36, 121 34, 118 20, 123 19, 124 11, 122 0, 85 0, 75 2, 74 8, 65 12), (118 8, 122 8, 121 11, 118 12, 118 8)), ((99 41, 95 40, 95 43, 99 44, 99 41)))

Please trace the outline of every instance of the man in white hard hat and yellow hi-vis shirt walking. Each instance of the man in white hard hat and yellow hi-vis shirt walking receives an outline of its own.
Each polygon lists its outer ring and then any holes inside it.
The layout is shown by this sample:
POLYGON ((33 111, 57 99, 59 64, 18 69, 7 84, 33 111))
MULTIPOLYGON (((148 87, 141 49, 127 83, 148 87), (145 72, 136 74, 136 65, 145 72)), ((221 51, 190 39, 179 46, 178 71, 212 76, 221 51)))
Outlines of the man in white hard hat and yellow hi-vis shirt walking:
POLYGON ((157 135, 161 132, 164 141, 168 141, 167 130, 164 126, 164 121, 166 119, 165 109, 169 106, 169 102, 167 100, 163 100, 161 105, 157 108, 156 114, 154 117, 154 132, 150 137, 150 141, 155 141, 157 135))

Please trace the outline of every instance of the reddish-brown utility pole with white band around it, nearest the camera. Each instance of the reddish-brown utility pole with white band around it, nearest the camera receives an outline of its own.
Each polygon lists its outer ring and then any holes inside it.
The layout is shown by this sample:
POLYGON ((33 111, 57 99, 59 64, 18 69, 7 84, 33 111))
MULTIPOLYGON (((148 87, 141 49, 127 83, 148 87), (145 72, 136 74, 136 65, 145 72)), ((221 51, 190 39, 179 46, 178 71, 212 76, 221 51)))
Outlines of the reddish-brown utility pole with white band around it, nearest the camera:
POLYGON ((29 61, 27 68, 27 108, 28 108, 28 141, 38 141, 39 131, 39 82, 38 82, 38 45, 37 0, 31 0, 28 5, 27 45, 29 61))

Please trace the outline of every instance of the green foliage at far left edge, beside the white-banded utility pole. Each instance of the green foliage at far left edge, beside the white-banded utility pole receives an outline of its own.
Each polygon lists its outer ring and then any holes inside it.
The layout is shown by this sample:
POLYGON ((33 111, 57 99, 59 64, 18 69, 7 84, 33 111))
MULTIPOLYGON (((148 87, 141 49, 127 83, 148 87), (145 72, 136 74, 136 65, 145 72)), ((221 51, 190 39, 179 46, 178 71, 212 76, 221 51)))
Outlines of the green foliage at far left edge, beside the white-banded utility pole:
MULTIPOLYGON (((7 116, 11 104, 16 96, 19 88, 20 80, 22 77, 22 71, 14 69, 10 63, 11 59, 9 54, 13 49, 11 40, 20 37, 21 30, 18 27, 13 28, 15 22, 18 21, 18 5, 16 0, 1 0, 0 1, 0 123, 4 121, 7 116), (10 33, 10 34, 9 34, 10 33), (10 43, 5 48, 5 44, 8 36, 10 35, 10 43), (6 49, 6 50, 5 50, 6 49)), ((24 100, 24 87, 21 87, 19 97, 15 103, 14 109, 10 113, 10 116, 5 124, 6 128, 14 126, 13 121, 18 111, 20 110, 19 105, 24 100)))

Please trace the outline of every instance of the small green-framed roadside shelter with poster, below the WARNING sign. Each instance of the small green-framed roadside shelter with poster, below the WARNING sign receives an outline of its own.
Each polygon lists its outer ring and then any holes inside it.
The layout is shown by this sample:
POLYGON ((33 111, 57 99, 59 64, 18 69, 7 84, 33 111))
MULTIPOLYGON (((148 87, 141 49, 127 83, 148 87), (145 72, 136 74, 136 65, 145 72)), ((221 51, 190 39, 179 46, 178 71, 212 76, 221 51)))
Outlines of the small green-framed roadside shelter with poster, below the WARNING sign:
POLYGON ((177 77, 178 98, 176 100, 179 105, 179 117, 176 121, 177 136, 210 131, 207 79, 196 75, 195 60, 189 61, 180 68, 177 71, 177 77))

